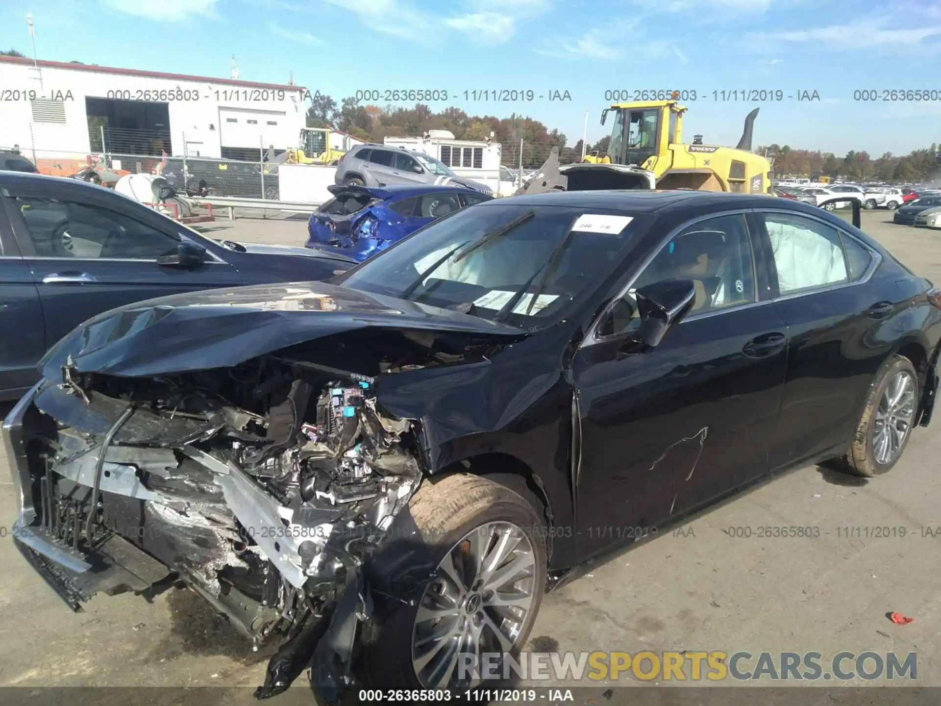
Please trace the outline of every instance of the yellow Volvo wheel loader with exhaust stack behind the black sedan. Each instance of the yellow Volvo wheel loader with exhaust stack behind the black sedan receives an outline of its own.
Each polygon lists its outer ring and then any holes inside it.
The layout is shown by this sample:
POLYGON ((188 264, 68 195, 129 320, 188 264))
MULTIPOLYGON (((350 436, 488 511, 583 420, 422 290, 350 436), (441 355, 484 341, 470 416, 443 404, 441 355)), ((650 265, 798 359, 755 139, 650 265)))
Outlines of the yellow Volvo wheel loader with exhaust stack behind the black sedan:
POLYGON ((553 150, 536 177, 517 193, 682 188, 774 195, 771 163, 751 152, 758 108, 745 118, 742 138, 735 148, 704 145, 699 136, 693 144, 683 144, 686 111, 676 101, 613 104, 601 113, 602 125, 613 118, 604 155, 592 152, 582 164, 559 167, 553 150))

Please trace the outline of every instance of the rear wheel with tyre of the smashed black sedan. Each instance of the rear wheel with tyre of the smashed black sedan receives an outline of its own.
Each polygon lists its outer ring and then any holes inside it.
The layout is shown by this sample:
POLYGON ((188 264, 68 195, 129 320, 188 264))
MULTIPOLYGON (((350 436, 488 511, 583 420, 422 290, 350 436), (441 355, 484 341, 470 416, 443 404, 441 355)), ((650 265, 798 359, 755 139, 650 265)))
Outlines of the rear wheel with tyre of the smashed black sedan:
POLYGON ((912 361, 892 356, 872 381, 846 460, 857 475, 887 473, 901 458, 918 409, 918 377, 912 361))

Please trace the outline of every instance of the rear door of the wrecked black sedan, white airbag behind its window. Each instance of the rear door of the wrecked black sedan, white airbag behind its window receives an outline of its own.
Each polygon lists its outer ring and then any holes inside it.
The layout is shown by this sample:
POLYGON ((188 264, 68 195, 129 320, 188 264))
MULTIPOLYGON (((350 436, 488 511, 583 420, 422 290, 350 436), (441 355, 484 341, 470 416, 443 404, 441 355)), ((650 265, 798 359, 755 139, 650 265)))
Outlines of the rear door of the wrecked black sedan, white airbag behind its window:
POLYGON ((829 221, 756 214, 774 310, 788 326, 788 369, 769 450, 772 469, 819 456, 853 436, 869 383, 903 304, 894 281, 874 278, 880 255, 829 221))

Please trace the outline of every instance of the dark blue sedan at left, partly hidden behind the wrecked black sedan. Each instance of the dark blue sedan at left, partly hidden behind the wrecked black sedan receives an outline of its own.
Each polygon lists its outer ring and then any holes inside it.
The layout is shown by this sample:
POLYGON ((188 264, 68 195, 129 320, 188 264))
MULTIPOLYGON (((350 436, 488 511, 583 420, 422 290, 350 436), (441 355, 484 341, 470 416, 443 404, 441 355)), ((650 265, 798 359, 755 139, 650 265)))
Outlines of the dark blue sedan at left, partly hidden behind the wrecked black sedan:
POLYGON ((96 313, 197 289, 323 280, 355 264, 218 243, 72 180, 3 171, 0 189, 0 399, 23 394, 46 348, 96 313))

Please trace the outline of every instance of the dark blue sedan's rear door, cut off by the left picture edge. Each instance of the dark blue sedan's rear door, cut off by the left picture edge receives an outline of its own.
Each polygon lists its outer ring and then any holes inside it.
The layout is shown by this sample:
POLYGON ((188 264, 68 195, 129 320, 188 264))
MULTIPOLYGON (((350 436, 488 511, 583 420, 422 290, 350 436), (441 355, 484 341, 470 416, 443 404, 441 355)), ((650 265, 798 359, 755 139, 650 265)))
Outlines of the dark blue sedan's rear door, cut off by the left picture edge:
POLYGON ((40 293, 0 203, 0 400, 25 392, 46 350, 40 293))

